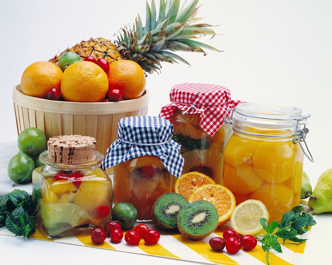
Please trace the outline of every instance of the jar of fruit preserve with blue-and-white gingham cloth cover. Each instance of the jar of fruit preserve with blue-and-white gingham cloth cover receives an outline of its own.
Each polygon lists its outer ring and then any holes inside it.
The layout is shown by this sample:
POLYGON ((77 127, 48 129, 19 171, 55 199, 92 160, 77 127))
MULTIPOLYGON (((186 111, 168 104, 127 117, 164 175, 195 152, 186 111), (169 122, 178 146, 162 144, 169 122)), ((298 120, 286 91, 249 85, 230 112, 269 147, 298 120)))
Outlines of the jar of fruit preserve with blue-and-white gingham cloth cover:
POLYGON ((175 178, 181 176, 181 146, 172 136, 173 125, 163 118, 123 118, 118 139, 101 163, 104 170, 114 166, 114 203, 133 204, 137 221, 151 221, 153 204, 172 192, 175 178))

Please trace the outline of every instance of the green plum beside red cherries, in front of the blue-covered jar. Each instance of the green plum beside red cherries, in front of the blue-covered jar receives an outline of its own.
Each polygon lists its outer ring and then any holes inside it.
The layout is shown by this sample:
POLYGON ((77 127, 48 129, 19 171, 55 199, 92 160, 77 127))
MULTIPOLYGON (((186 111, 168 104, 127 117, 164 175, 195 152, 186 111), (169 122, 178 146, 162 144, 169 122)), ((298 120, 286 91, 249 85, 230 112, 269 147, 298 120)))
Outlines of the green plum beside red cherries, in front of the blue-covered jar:
POLYGON ((137 210, 131 203, 117 203, 112 209, 112 220, 119 221, 122 228, 129 229, 137 221, 137 210))

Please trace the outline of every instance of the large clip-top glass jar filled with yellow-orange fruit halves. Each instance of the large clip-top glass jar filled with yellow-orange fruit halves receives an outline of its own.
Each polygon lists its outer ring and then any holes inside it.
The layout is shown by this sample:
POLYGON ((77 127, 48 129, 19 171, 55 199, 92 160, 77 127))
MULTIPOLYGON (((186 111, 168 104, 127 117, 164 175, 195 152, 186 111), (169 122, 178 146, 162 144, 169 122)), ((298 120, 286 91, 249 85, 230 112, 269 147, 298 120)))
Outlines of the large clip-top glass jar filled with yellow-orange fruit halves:
POLYGON ((223 185, 233 192, 236 205, 260 200, 270 221, 280 221, 300 201, 301 141, 308 133, 305 124, 310 115, 301 116, 296 107, 266 103, 242 103, 232 111, 232 119, 225 118, 233 134, 224 150, 223 185))

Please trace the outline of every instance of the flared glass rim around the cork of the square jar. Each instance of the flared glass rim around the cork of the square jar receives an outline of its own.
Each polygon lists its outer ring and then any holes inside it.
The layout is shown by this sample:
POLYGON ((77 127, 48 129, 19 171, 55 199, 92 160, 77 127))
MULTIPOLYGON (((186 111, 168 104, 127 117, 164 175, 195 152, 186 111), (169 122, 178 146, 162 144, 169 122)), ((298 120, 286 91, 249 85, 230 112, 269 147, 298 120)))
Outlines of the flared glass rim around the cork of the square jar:
POLYGON ((91 162, 88 162, 88 163, 76 164, 76 165, 74 165, 74 164, 68 165, 68 164, 52 162, 48 159, 48 151, 42 152, 39 155, 39 159, 45 165, 49 165, 49 166, 52 166, 52 167, 56 167, 56 168, 60 168, 60 169, 64 169, 64 170, 78 170, 78 169, 83 169, 83 168, 88 168, 88 167, 99 165, 103 161, 104 155, 100 152, 95 151, 95 159, 94 160, 92 160, 91 162))

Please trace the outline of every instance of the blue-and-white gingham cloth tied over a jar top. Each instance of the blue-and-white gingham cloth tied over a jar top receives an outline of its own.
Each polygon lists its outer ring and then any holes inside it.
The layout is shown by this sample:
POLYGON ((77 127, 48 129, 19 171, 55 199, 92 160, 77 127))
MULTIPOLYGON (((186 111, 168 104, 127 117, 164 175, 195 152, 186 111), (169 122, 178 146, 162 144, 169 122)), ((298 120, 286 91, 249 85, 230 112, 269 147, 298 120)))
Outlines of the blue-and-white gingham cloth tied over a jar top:
POLYGON ((141 155, 157 155, 174 176, 180 177, 184 159, 181 145, 172 140, 173 125, 166 119, 135 116, 119 121, 118 139, 107 149, 102 169, 141 155))

